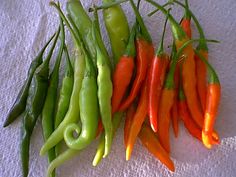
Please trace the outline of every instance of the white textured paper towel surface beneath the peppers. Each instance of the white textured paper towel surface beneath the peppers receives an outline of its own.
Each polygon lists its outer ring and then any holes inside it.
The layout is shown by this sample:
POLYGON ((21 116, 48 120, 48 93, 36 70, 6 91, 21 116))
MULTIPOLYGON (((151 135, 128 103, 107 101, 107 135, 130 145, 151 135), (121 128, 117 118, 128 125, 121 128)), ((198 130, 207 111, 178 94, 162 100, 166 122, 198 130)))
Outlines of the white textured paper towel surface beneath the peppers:
MULTIPOLYGON (((122 123, 111 154, 98 167, 92 167, 96 151, 94 142, 80 155, 60 167, 58 176, 236 176, 236 1, 189 1, 191 9, 204 27, 207 38, 221 41, 220 44, 209 47, 210 61, 217 69, 222 84, 221 106, 216 122, 221 145, 210 151, 206 150, 201 143, 190 137, 181 123, 178 139, 173 137, 171 130, 171 157, 176 167, 176 172, 171 173, 141 146, 140 141, 135 145, 131 160, 125 161, 122 123)), ((61 1, 63 6, 65 2, 61 1)), ((82 2, 88 8, 92 1, 82 2)), ((159 2, 164 3, 163 0, 159 2)), ((129 22, 133 22, 134 16, 130 6, 126 3, 123 7, 129 22)), ((148 18, 146 14, 151 9, 153 8, 147 3, 141 4, 145 23, 150 29, 154 43, 157 44, 163 26, 163 16, 159 13, 148 18)), ((0 12, 0 176, 16 177, 21 176, 21 120, 18 119, 5 129, 2 125, 27 76, 32 58, 55 31, 58 18, 47 0, 1 0, 0 12)), ((176 8, 172 13, 178 18, 182 16, 180 8, 176 8)), ((170 35, 168 36, 166 46, 171 44, 170 35)), ((107 38, 105 41, 108 43, 107 38)), ((43 143, 39 122, 31 140, 29 176, 45 176, 47 161, 45 157, 39 156, 43 143)))

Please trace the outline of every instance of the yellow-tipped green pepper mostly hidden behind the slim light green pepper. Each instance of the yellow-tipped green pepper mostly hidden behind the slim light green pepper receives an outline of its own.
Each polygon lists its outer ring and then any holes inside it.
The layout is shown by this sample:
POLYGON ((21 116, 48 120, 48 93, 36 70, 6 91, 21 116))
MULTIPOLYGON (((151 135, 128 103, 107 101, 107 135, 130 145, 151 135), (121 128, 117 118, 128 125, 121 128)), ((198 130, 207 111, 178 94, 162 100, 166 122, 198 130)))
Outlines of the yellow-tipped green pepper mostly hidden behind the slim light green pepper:
MULTIPOLYGON (((115 133, 120 125, 123 115, 124 114, 122 112, 116 112, 114 114, 114 117, 112 119, 112 127, 113 127, 112 139, 115 136, 115 133)), ((105 152, 105 134, 104 134, 104 132, 102 132, 102 134, 100 135, 97 152, 96 152, 95 157, 93 159, 93 166, 97 166, 99 164, 99 162, 102 160, 104 152, 105 152)))

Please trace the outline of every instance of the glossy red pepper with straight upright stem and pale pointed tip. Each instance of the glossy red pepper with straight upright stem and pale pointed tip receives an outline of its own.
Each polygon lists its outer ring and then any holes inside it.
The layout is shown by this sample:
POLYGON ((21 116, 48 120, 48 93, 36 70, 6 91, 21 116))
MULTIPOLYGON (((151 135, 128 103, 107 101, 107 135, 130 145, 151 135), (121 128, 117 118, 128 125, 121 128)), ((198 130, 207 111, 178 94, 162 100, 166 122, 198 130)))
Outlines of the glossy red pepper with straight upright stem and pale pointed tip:
POLYGON ((166 70, 169 65, 169 56, 164 53, 164 35, 168 18, 166 18, 163 34, 159 48, 152 60, 148 71, 148 115, 150 125, 154 132, 157 132, 157 114, 159 110, 159 100, 164 84, 166 70))

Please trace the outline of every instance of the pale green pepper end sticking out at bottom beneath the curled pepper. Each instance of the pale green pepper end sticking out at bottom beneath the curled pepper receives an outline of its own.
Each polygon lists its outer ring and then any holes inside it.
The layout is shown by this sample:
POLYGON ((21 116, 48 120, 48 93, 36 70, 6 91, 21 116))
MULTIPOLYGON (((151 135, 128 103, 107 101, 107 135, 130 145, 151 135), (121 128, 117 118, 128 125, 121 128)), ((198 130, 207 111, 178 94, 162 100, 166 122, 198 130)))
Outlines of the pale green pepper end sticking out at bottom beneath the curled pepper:
POLYGON ((52 172, 55 168, 62 165, 65 161, 70 160, 71 158, 75 157, 77 154, 79 154, 79 150, 75 149, 67 149, 65 152, 60 154, 57 158, 55 158, 50 165, 48 166, 47 170, 47 177, 51 177, 52 172))

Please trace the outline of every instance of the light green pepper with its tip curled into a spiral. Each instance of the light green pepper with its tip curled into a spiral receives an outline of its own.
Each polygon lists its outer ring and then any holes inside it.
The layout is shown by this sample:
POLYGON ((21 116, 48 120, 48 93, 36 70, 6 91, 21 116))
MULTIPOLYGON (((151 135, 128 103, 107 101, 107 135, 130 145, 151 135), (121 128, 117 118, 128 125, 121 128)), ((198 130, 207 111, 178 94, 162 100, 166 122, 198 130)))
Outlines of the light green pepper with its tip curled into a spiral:
POLYGON ((79 96, 81 126, 75 123, 68 125, 64 132, 64 139, 68 147, 80 150, 92 142, 97 132, 99 115, 97 81, 95 67, 82 41, 82 36, 73 22, 73 19, 69 18, 69 20, 76 32, 74 35, 75 40, 77 44, 81 46, 85 55, 86 68, 79 96), (78 138, 74 137, 73 133, 75 132, 78 138))

